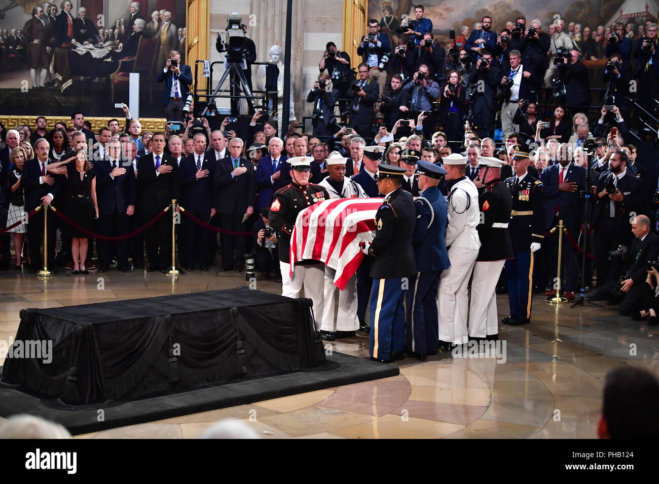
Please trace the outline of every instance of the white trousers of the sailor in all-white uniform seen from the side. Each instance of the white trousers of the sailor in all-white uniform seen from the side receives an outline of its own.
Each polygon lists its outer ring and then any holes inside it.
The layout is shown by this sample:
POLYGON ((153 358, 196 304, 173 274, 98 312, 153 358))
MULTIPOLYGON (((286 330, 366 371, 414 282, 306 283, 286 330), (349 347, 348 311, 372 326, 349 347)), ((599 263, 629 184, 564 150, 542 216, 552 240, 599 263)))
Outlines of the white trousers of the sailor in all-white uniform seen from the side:
POLYGON ((467 314, 469 312, 469 276, 478 257, 478 250, 451 246, 451 267, 442 271, 437 293, 440 341, 463 344, 469 340, 467 314))

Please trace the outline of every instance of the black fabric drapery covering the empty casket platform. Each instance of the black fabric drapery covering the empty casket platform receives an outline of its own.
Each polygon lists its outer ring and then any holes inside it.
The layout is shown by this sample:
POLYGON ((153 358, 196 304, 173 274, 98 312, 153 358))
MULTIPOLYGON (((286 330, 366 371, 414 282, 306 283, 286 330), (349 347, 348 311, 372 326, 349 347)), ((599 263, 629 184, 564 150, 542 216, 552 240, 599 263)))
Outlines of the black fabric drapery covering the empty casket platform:
POLYGON ((21 311, 16 340, 51 363, 7 358, 5 385, 84 406, 146 398, 325 360, 310 300, 248 288, 21 311))

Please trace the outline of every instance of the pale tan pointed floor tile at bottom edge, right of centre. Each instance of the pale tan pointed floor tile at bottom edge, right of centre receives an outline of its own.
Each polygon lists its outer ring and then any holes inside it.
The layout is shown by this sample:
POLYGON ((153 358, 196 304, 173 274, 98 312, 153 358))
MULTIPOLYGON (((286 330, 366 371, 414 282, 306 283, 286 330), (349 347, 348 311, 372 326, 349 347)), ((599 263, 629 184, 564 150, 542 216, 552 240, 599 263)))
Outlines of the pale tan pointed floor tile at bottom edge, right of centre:
POLYGON ((455 423, 389 414, 333 433, 348 439, 438 439, 462 428, 455 423))

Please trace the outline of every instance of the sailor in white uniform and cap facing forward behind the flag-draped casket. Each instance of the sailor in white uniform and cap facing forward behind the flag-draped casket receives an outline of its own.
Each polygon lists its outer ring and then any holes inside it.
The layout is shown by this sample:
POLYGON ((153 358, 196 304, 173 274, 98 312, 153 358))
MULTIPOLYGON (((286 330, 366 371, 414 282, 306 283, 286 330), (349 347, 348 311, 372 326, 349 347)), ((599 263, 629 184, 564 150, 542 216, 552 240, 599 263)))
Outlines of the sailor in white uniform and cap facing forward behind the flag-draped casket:
MULTIPOLYGON (((324 187, 329 198, 366 198, 364 190, 354 180, 345 176, 347 158, 339 156, 325 160, 328 167, 328 178, 324 178, 318 186, 324 187)), ((323 290, 323 313, 320 323, 320 335, 324 340, 347 338, 355 336, 359 328, 357 319, 357 275, 353 275, 342 291, 339 291, 339 311, 334 321, 334 277, 336 270, 325 266, 325 281, 323 290)))

